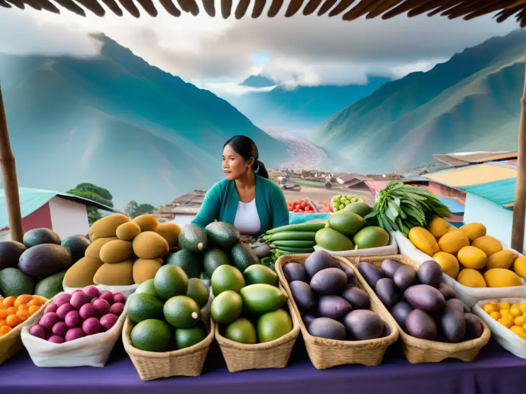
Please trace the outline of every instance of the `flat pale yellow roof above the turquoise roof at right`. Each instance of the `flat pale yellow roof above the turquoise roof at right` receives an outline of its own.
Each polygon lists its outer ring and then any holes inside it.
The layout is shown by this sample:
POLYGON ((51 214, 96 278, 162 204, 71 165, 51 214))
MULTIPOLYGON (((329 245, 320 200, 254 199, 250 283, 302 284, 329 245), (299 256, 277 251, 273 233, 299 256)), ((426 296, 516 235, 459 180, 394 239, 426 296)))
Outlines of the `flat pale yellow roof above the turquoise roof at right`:
POLYGON ((470 165, 450 171, 422 175, 455 188, 517 178, 517 170, 491 163, 470 165))

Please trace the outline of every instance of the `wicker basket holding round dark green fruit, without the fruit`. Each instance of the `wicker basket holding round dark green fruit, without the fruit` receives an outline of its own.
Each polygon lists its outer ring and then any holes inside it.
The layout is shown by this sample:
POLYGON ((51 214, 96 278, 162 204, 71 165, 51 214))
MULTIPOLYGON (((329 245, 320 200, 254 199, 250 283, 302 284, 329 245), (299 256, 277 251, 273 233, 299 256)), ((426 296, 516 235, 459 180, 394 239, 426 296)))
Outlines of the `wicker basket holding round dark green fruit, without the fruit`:
POLYGON ((135 348, 130 333, 133 323, 126 317, 123 327, 124 349, 131 358, 141 380, 153 380, 170 376, 199 376, 205 364, 210 344, 214 340, 215 324, 210 319, 210 330, 200 343, 186 349, 154 352, 135 348))

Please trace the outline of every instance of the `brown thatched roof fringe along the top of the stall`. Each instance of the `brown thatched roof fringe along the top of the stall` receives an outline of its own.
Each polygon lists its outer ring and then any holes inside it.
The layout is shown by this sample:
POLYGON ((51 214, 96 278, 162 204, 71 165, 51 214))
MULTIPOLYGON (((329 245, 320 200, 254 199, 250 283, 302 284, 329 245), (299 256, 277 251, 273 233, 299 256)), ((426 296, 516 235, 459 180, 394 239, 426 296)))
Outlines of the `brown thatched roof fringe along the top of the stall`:
MULTIPOLYGON (((157 16, 159 6, 173 16, 181 12, 197 15, 201 11, 196 0, 177 0, 177 6, 172 0, 136 0, 141 8, 150 16, 157 16)), ((263 14, 267 0, 254 0, 251 17, 258 18, 263 14)), ((49 0, 0 0, 0 6, 12 6, 24 9, 25 6, 34 9, 59 14, 60 8, 66 8, 75 14, 86 16, 85 9, 97 16, 104 16, 106 9, 102 4, 118 16, 125 12, 138 18, 139 9, 133 0, 54 0, 58 7, 49 0), (82 7, 81 7, 82 6, 82 7), (83 8, 84 7, 84 8, 83 8)), ((251 0, 239 0, 234 10, 234 16, 239 19, 245 16, 251 0)), ((211 16, 216 16, 215 0, 201 0, 201 7, 211 16)), ((269 0, 267 16, 272 18, 282 8, 286 8, 285 16, 295 15, 302 9, 303 15, 317 13, 318 16, 336 16, 342 14, 343 20, 353 20, 361 16, 368 19, 381 16, 389 19, 393 16, 407 13, 409 17, 427 13, 428 16, 442 15, 450 19, 463 17, 466 20, 485 14, 494 14, 497 22, 503 22, 515 15, 521 27, 526 26, 526 0, 269 0), (305 5, 305 6, 304 6, 305 5), (352 6, 352 7, 351 7, 352 6)), ((232 0, 220 0, 220 12, 223 18, 232 13, 232 0)))

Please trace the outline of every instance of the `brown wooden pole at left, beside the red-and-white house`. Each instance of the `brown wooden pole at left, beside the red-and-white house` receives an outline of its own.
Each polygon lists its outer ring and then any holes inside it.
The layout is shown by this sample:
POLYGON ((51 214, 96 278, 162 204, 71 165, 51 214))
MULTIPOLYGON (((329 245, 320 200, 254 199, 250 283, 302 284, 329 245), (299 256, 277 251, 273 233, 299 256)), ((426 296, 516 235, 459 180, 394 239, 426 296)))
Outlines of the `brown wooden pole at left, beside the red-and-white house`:
POLYGON ((18 181, 16 179, 15 157, 11 150, 7 121, 5 119, 4 100, 0 86, 0 167, 4 183, 5 202, 9 231, 13 241, 22 242, 24 230, 22 227, 22 213, 20 211, 20 196, 18 195, 18 181))

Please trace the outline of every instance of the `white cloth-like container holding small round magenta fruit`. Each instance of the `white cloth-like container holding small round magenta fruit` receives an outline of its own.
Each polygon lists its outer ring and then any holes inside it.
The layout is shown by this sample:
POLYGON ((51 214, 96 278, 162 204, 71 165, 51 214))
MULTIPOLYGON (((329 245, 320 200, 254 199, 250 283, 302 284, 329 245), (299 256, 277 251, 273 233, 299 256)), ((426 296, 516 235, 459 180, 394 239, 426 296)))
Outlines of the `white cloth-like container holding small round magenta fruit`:
MULTIPOLYGON (((49 303, 46 303, 46 306, 49 303)), ((29 329, 44 315, 45 307, 42 307, 22 328, 22 343, 37 367, 104 367, 122 332, 127 309, 128 300, 117 323, 104 333, 88 335, 63 344, 54 344, 29 334, 29 329)))

